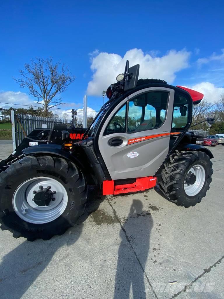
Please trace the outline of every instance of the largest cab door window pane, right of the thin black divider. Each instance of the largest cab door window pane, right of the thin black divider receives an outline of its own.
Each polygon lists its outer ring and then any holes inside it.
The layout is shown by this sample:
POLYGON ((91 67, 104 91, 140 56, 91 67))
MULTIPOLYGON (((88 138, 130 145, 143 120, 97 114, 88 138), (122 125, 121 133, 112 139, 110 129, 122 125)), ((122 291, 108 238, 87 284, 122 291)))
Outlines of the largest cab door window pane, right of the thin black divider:
POLYGON ((168 92, 150 91, 129 101, 127 132, 151 130, 165 121, 168 92))

